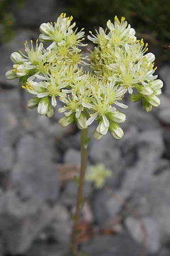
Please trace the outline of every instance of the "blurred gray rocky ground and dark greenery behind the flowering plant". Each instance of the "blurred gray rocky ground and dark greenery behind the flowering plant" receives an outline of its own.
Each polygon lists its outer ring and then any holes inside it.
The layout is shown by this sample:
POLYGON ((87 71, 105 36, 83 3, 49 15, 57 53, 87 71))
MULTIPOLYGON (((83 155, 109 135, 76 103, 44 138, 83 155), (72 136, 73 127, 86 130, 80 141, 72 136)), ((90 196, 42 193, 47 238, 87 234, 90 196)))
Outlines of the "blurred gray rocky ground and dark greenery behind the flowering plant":
POLYGON ((102 189, 84 186, 81 249, 89 256, 170 255, 170 51, 163 49, 170 43, 169 8, 168 0, 0 1, 0 256, 70 255, 79 131, 60 127, 57 112, 49 119, 27 109, 18 81, 5 79, 11 52, 62 12, 91 30, 126 16, 155 53, 164 81, 152 113, 128 103, 120 141, 108 134, 90 143, 88 165, 103 163, 112 177, 102 189))

